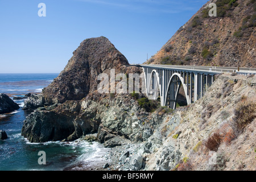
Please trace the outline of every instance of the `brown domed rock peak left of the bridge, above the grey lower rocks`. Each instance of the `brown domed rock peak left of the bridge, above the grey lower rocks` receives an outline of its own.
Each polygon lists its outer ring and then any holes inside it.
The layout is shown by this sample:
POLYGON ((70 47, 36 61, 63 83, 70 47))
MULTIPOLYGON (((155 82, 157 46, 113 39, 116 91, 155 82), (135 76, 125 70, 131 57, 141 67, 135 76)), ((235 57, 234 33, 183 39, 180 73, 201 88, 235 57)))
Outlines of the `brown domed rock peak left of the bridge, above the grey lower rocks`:
POLYGON ((119 72, 123 65, 129 65, 127 59, 107 38, 86 39, 60 75, 43 89, 43 96, 49 104, 81 100, 97 90, 100 73, 109 73, 110 68, 119 72))

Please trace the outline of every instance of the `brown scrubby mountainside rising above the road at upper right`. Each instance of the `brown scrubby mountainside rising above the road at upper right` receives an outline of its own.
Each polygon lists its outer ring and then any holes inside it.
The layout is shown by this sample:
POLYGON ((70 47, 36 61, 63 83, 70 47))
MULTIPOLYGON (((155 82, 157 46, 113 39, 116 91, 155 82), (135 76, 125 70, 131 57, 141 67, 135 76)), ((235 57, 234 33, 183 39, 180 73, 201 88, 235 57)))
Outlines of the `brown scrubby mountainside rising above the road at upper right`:
POLYGON ((256 67, 255 27, 255 1, 209 1, 145 64, 256 67))

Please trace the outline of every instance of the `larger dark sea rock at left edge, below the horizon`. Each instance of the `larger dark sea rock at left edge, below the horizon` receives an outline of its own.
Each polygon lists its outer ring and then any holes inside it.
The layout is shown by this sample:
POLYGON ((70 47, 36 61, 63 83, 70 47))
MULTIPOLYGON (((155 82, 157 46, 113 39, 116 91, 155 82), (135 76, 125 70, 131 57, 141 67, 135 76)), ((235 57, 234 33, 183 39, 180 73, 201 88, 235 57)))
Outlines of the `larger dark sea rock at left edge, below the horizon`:
POLYGON ((0 114, 10 113, 16 109, 19 109, 19 105, 6 94, 0 93, 0 114))

